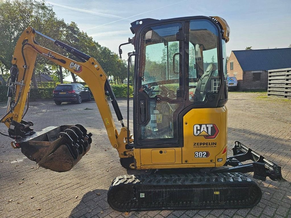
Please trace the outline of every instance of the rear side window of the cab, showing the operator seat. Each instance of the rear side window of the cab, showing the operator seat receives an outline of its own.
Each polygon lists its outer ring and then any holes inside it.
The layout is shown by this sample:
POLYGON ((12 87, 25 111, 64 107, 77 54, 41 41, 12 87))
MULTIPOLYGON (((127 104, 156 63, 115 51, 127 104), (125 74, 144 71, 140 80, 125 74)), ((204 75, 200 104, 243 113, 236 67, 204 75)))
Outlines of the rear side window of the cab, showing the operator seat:
MULTIPOLYGON (((220 86, 218 30, 208 20, 189 22, 189 101, 199 103, 220 86)), ((187 51, 186 51, 187 52, 187 51)), ((226 57, 225 57, 226 59, 226 57)))

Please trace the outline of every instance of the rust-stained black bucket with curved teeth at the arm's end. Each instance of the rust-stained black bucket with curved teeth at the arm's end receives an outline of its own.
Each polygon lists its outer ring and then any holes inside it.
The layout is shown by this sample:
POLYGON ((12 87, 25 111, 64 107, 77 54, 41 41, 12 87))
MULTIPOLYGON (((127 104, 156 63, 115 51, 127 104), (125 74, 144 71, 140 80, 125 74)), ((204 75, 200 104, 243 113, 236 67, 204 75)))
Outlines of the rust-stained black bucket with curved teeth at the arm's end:
POLYGON ((81 124, 50 126, 15 143, 27 158, 40 167, 65 172, 89 151, 91 136, 81 124))

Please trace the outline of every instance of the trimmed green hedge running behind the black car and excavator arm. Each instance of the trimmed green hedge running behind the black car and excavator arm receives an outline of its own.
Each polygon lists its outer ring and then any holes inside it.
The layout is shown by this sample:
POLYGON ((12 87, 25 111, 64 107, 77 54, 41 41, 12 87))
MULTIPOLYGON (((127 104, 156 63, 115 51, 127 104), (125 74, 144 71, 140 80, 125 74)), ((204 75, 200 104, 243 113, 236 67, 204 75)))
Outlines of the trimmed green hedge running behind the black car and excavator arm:
MULTIPOLYGON (((112 87, 112 90, 113 90, 116 98, 126 98, 127 97, 127 85, 126 84, 111 85, 111 87, 112 87)), ((31 88, 29 99, 30 100, 52 99, 54 88, 55 87, 46 87, 46 88, 38 88, 38 89, 31 88)), ((8 87, 6 87, 5 85, 0 85, 0 102, 7 101, 7 90, 8 90, 8 87)), ((133 97, 132 93, 133 93, 133 87, 129 86, 129 97, 133 97)))

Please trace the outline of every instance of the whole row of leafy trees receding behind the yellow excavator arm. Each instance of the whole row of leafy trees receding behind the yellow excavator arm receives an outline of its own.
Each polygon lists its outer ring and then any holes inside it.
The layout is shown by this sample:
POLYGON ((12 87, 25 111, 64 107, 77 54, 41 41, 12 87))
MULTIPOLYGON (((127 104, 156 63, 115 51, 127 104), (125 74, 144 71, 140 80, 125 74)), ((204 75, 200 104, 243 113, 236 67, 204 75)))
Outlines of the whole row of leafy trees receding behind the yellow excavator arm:
MULTIPOLYGON (((63 19, 58 19, 52 6, 45 3, 45 0, 0 0, 0 73, 6 76, 19 36, 28 26, 32 26, 39 32, 96 58, 108 76, 113 76, 117 83, 122 83, 127 77, 127 63, 109 48, 95 42, 87 33, 80 31, 75 22, 66 24, 63 19)), ((41 46, 72 60, 82 61, 43 37, 36 35, 36 41, 41 46)), ((34 87, 37 87, 36 76, 44 72, 61 83, 64 76, 70 75, 68 70, 38 55, 32 76, 34 87)), ((77 82, 78 77, 73 73, 71 75, 73 81, 77 82)))

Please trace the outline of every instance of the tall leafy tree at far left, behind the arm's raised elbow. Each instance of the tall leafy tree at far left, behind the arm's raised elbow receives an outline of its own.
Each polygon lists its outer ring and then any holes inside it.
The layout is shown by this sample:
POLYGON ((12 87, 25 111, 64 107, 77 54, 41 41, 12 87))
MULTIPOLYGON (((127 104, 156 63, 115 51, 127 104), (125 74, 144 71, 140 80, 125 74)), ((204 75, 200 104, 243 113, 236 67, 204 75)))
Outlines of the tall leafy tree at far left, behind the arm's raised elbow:
MULTIPOLYGON (((0 1, 0 8, 0 62, 5 67, 2 72, 8 72, 16 42, 28 26, 54 38, 60 35, 60 28, 65 24, 63 20, 57 19, 52 7, 45 5, 44 0, 0 1)), ((52 45, 43 38, 36 37, 36 40, 47 48, 52 45)), ((48 62, 41 56, 37 57, 32 78, 34 87, 37 87, 35 74, 41 73, 43 64, 48 62)))

